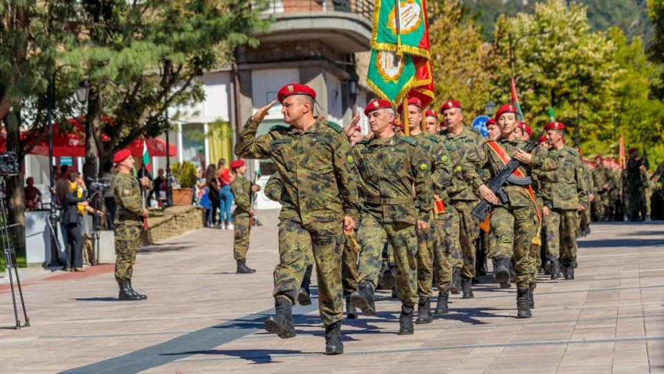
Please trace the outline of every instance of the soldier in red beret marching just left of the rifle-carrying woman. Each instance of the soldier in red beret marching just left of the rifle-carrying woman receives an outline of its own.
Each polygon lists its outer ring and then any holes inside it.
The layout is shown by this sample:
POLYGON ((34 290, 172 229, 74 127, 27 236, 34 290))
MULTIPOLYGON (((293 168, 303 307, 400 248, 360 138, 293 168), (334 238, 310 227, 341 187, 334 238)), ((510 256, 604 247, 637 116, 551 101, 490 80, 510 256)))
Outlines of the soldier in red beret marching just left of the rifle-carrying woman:
MULTIPOLYGON (((483 137, 481 133, 472 127, 463 125, 463 112, 461 103, 457 100, 450 100, 441 106, 443 121, 447 124, 447 129, 443 132, 445 144, 453 150, 450 151, 452 165, 454 165, 454 174, 452 175, 452 184, 447 190, 448 205, 452 215, 452 222, 459 222, 458 229, 455 230, 459 235, 459 244, 463 262, 454 261, 452 254, 452 293, 458 293, 459 273, 461 274, 461 290, 463 299, 470 299, 472 294, 472 278, 475 276, 475 240, 479 237, 479 225, 471 215, 470 211, 477 204, 478 196, 462 177, 463 172, 476 172, 480 170, 484 162, 481 158, 481 143, 483 137), (465 164, 465 166, 462 166, 465 164), (473 168, 472 170, 463 170, 463 168, 473 168), (456 292, 455 292, 456 291, 456 292)), ((455 224, 455 229, 456 229, 455 224)))

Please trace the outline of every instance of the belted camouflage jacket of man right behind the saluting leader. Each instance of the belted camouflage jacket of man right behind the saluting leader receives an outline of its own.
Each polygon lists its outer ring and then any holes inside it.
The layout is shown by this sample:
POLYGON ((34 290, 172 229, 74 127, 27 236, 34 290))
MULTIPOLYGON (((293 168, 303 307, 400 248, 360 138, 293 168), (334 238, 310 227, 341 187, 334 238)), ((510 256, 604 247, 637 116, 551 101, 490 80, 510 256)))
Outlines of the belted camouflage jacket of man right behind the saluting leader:
POLYGON ((358 142, 353 155, 364 200, 362 214, 374 215, 381 222, 429 222, 433 182, 427 150, 421 144, 410 136, 394 134, 358 142))

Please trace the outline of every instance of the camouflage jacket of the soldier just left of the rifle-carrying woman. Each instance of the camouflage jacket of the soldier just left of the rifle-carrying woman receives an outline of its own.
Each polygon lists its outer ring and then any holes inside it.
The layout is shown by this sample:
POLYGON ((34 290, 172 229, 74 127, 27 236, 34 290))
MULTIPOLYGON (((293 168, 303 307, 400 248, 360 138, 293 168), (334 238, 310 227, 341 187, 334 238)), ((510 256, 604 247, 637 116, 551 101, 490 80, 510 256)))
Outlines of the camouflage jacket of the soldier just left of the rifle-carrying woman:
POLYGON ((481 144, 484 138, 477 130, 465 126, 458 135, 445 131, 441 137, 452 160, 452 181, 441 195, 443 201, 449 204, 454 200, 477 200, 477 191, 468 184, 463 174, 465 172, 477 174, 478 170, 481 170, 484 163, 481 144))

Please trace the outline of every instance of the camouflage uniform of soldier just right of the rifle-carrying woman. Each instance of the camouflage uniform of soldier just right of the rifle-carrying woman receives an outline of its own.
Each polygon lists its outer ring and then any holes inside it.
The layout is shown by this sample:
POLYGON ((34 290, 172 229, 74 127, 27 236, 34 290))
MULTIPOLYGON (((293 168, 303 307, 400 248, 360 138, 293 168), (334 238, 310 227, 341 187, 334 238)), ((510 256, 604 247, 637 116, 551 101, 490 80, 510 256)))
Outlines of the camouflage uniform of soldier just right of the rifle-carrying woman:
POLYGON ((558 160, 557 183, 547 184, 551 199, 544 201, 549 213, 544 217, 546 249, 549 258, 576 260, 576 239, 579 230, 578 207, 588 205, 588 184, 578 152, 567 145, 549 150, 558 160))

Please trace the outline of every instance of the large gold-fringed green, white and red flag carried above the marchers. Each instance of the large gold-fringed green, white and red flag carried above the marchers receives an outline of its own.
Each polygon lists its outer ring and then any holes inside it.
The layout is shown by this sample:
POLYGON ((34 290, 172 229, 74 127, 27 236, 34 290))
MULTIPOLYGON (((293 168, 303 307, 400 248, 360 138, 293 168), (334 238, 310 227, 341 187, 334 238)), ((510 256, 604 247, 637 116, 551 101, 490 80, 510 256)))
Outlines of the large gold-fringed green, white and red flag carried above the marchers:
POLYGON ((433 101, 425 7, 425 0, 379 0, 374 7, 367 84, 395 106, 407 97, 423 107, 433 101))

